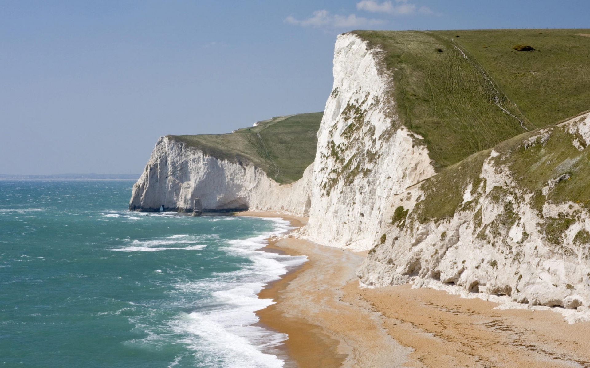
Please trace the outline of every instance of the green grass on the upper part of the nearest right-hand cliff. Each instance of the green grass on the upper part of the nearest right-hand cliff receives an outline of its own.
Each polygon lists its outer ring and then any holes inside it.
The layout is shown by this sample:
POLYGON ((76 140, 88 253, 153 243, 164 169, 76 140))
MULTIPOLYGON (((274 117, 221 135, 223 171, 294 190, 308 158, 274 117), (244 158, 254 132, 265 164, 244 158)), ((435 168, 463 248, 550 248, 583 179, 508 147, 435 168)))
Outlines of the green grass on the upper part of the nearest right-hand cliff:
MULTIPOLYGON (((493 149, 498 155, 494 157, 493 163, 497 170, 512 177, 512 190, 533 194, 529 203, 539 214, 545 203, 571 201, 590 208, 590 150, 585 147, 584 140, 563 126, 550 125, 542 132, 526 132, 496 145, 493 149), (580 149, 576 148, 574 141, 578 142, 580 149), (555 187, 544 195, 543 187, 551 181, 555 187)), ((439 221, 461 210, 463 193, 469 184, 472 184, 472 195, 480 185, 486 188, 487 183, 482 183, 480 173, 484 160, 489 156, 490 150, 476 152, 425 180, 421 184, 425 194, 415 207, 415 218, 422 223, 439 221)), ((494 190, 497 191, 497 201, 507 191, 500 187, 494 190)), ((479 199, 476 195, 474 200, 479 199)), ((471 204, 470 201, 463 207, 471 204)))

